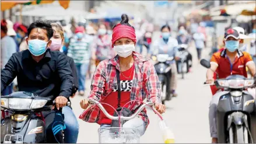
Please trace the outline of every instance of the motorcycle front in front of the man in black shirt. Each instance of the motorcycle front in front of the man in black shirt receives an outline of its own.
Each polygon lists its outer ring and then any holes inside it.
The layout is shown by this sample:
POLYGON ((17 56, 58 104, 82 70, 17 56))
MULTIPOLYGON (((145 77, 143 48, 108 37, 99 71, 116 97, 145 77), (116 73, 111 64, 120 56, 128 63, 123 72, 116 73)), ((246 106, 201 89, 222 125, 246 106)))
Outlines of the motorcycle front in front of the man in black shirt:
MULTIPOLYGON (((45 104, 50 102, 50 98, 38 97, 29 92, 1 96, 1 113, 10 113, 10 117, 1 120, 1 143, 46 143, 41 111, 49 110, 52 105, 45 104)), ((67 106, 70 106, 69 101, 67 106)))

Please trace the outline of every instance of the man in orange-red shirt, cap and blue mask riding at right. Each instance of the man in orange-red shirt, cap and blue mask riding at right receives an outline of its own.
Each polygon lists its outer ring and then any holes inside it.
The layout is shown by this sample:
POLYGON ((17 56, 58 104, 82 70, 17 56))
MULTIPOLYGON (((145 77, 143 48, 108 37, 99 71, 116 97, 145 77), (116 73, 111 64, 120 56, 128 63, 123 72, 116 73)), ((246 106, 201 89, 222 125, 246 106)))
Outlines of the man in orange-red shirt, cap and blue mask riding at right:
MULTIPOLYGON (((250 54, 242 52, 239 49, 239 33, 234 29, 228 29, 225 33, 225 47, 221 51, 216 52, 211 58, 211 68, 206 72, 206 83, 214 82, 214 71, 218 71, 219 79, 226 78, 229 75, 243 75, 247 77, 246 66, 252 75, 255 75, 255 64, 252 61, 250 54)), ((216 128, 216 111, 219 103, 219 98, 226 91, 219 90, 213 95, 209 107, 209 122, 212 137, 212 143, 217 143, 217 128, 216 128)), ((255 98, 255 96, 254 96, 255 98)))

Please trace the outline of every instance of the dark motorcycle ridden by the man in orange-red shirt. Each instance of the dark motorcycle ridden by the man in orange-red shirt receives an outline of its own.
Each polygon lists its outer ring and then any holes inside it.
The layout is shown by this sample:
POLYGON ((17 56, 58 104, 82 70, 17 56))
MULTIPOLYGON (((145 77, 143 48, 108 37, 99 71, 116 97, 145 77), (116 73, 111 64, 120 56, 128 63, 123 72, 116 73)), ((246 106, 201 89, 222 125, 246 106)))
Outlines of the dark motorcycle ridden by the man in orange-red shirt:
MULTIPOLYGON (((211 68, 210 62, 205 59, 200 63, 205 68, 211 68)), ((255 86, 255 79, 230 75, 226 79, 216 79, 213 84, 204 84, 216 85, 219 89, 229 91, 220 97, 217 106, 218 143, 255 143, 255 100, 244 92, 247 88, 255 86)))

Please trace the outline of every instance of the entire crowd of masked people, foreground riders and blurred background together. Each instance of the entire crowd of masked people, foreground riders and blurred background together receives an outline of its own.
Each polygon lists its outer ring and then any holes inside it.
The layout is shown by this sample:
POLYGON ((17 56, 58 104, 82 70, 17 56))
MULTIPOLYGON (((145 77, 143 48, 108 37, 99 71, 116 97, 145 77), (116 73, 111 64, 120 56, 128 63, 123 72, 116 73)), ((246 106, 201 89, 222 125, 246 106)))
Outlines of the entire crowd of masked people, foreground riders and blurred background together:
MULTIPOLYGON (((66 103, 76 94, 85 95, 86 76, 90 76, 91 65, 96 65, 97 68, 92 76, 88 99, 110 104, 114 108, 125 107, 134 113, 142 103, 136 102, 127 106, 125 104, 131 100, 143 101, 147 98, 155 103, 159 113, 164 113, 166 107, 161 103, 160 83, 155 68, 148 59, 135 52, 135 47, 138 46, 142 52, 144 45, 149 57, 166 53, 174 56, 170 62, 172 69, 170 89, 173 96, 177 96, 175 62, 178 59, 177 46, 191 45, 191 41, 194 40, 199 61, 202 49, 206 47, 203 23, 197 26, 192 24, 190 33, 184 26, 180 26, 177 37, 172 37, 171 27, 164 25, 160 29, 162 34, 156 41, 152 41, 153 31, 150 30, 146 30, 138 40, 135 28, 128 23, 127 15, 122 15, 121 22, 115 24, 113 30, 108 29, 104 23, 99 24, 97 33, 90 33, 91 30, 90 26, 77 26, 72 36, 66 37, 68 34, 59 23, 37 20, 26 27, 21 23, 12 24, 9 20, 1 20, 1 93, 2 95, 12 93, 12 81, 17 76, 19 91, 33 92, 38 96, 55 100, 56 106, 52 111, 63 107, 62 113, 68 117, 64 119, 65 134, 68 136, 64 140, 58 139, 57 142, 76 143, 77 141, 78 121, 72 108, 66 106, 66 103), (117 86, 120 82, 128 82, 127 87, 117 86), (120 94, 122 94, 121 98, 120 94)), ((253 34, 255 36, 255 25, 253 34)), ((244 65, 243 70, 234 68, 231 74, 247 76, 245 70, 247 66, 251 74, 255 75, 253 59, 250 54, 243 52, 246 50, 243 36, 245 36, 244 30, 241 27, 228 29, 225 33, 225 48, 213 54, 211 69, 218 71, 221 78, 230 75, 230 72, 227 72, 230 69, 227 68, 240 58, 241 64, 238 62, 237 65, 244 65), (222 65, 222 62, 226 61, 223 55, 229 59, 229 66, 222 65)), ((255 41, 252 46, 255 47, 255 41)), ((213 82, 215 78, 213 71, 207 72, 207 83, 213 82)), ((222 94, 223 92, 216 92, 215 97, 218 98, 222 94)), ((215 120, 217 98, 211 102, 210 120, 215 120)), ((99 108, 96 106, 87 108, 88 100, 80 101, 80 106, 86 109, 80 119, 97 122, 100 127, 113 126, 113 121, 103 113, 99 113, 99 108)), ((114 110, 105 108, 108 113, 114 115, 114 110)), ((50 127, 55 122, 55 114, 52 111, 45 112, 47 135, 52 134, 50 127)), ((148 124, 149 118, 144 110, 138 118, 127 121, 124 127, 136 127, 143 135, 148 124)), ((215 124, 215 121, 210 121, 213 142, 216 142, 215 124)), ((57 135, 62 135, 61 131, 57 135)), ((51 138, 48 137, 48 143, 57 143, 51 138)))

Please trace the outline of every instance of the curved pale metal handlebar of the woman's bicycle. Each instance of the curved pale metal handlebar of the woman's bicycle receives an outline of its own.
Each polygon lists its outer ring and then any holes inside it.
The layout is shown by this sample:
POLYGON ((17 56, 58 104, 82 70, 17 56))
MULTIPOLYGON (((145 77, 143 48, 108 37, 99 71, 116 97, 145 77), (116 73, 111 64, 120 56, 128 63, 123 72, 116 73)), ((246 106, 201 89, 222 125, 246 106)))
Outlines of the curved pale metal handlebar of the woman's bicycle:
MULTIPOLYGON (((119 119, 119 117, 114 117, 113 115, 110 115, 110 114, 106 111, 106 109, 102 106, 102 104, 99 103, 99 101, 96 101, 96 100, 89 100, 89 103, 96 104, 97 106, 99 106, 100 110, 102 110, 103 113, 104 113, 110 120, 118 120, 118 119, 119 119)), ((154 103, 152 103, 152 102, 148 102, 148 103, 142 104, 142 106, 139 107, 138 110, 137 110, 134 114, 132 114, 132 115, 129 116, 129 117, 124 117, 124 116, 121 115, 121 116, 120 116, 120 119, 121 119, 121 120, 131 120, 131 119, 135 118, 136 115, 138 115, 138 114, 143 110, 143 108, 145 108, 146 106, 153 106, 153 105, 154 105, 154 103)))

